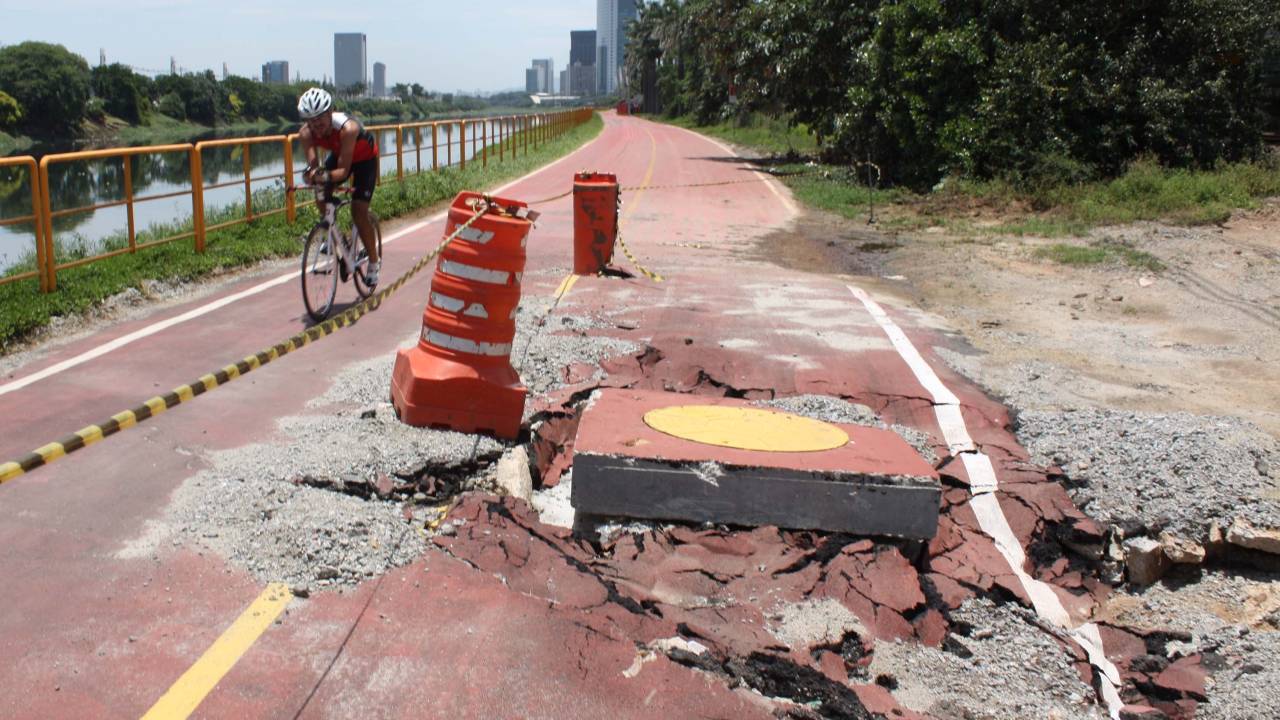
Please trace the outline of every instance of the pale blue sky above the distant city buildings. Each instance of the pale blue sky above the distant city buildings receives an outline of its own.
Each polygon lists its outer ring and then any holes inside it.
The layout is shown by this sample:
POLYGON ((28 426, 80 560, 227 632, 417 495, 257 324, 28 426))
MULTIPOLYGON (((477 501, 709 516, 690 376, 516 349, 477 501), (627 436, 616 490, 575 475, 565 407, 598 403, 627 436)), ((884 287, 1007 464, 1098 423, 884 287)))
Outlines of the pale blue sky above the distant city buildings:
POLYGON ((558 76, 570 31, 595 29, 595 0, 0 0, 0 45, 52 42, 90 65, 105 49, 108 63, 140 72, 168 72, 174 56, 221 77, 227 63, 251 78, 268 60, 332 78, 333 33, 362 32, 370 82, 374 63, 385 63, 388 87, 492 92, 524 91, 534 58, 552 58, 558 76))

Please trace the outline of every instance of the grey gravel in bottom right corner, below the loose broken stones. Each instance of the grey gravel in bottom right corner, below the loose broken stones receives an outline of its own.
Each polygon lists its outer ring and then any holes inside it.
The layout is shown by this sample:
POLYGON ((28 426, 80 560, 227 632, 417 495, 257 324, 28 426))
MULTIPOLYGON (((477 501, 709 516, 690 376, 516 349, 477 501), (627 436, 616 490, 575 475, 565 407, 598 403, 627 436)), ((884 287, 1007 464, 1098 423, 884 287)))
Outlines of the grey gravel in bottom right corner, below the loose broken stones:
POLYGON ((1198 720, 1280 717, 1280 574, 1210 570, 1194 584, 1117 593, 1107 611, 1130 626, 1192 635, 1166 643, 1165 653, 1206 653, 1208 702, 1198 720))

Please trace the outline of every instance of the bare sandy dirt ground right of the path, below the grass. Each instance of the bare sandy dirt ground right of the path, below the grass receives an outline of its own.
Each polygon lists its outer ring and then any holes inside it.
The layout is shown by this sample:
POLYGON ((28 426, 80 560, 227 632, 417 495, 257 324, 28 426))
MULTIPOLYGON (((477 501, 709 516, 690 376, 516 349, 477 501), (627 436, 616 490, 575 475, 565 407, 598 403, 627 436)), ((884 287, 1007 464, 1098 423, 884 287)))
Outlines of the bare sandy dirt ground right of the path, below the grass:
POLYGON ((1280 438, 1280 199, 1222 225, 1138 223, 1087 238, 881 232, 806 211, 762 247, 782 265, 859 282, 945 318, 998 377, 1027 363, 1068 373, 1043 406, 1231 415, 1280 438), (1124 242, 1158 258, 1064 265, 1052 243, 1124 242))

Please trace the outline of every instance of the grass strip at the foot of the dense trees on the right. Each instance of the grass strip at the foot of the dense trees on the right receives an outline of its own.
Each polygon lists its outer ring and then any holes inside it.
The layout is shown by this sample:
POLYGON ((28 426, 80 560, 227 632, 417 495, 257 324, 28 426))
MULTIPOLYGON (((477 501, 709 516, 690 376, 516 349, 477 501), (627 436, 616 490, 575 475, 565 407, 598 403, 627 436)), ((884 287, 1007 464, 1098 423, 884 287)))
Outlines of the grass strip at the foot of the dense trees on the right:
POLYGON ((804 156, 817 156, 818 145, 803 126, 762 118, 713 126, 698 126, 690 118, 664 122, 771 156, 781 163, 777 170, 800 202, 863 220, 874 210, 881 227, 890 229, 942 227, 957 233, 1079 237, 1100 225, 1138 220, 1222 223, 1235 210, 1254 209, 1261 199, 1280 195, 1280 155, 1275 152, 1211 170, 1139 160, 1120 177, 1076 184, 1032 187, 1002 179, 948 178, 927 193, 892 187, 868 193, 865 167, 804 161, 804 156))

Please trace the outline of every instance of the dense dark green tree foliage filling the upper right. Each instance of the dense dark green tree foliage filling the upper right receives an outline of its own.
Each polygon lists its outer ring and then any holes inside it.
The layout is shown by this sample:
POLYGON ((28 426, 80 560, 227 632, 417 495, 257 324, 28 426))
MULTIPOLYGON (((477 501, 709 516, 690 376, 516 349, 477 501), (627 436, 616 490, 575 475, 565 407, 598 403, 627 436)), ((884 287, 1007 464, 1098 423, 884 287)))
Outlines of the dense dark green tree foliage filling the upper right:
POLYGON ((627 78, 655 76, 662 111, 704 124, 788 117, 828 160, 914 187, 1056 184, 1254 158, 1277 17, 1280 0, 663 0, 631 26, 627 78))

